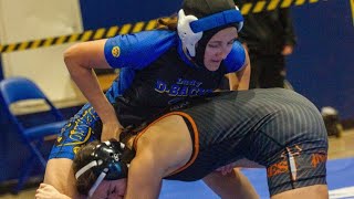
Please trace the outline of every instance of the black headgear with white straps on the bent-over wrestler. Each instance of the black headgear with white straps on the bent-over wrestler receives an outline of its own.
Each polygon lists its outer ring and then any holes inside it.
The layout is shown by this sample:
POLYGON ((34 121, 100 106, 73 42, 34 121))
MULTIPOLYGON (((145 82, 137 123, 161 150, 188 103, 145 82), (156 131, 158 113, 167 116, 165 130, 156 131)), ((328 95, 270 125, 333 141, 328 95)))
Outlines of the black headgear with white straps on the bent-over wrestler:
POLYGON ((117 180, 126 178, 131 160, 135 151, 125 147, 117 140, 108 140, 95 146, 93 153, 87 157, 90 163, 77 170, 75 178, 79 179, 84 172, 93 169, 97 179, 88 191, 91 197, 102 180, 117 180))

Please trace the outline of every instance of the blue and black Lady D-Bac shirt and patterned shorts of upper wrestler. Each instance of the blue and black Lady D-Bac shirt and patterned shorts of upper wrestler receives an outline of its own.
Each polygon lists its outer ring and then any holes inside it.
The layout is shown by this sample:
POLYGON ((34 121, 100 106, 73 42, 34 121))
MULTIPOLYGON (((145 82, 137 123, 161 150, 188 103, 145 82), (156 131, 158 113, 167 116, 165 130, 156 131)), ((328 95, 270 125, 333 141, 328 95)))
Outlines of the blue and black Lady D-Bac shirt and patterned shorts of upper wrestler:
MULTIPOLYGON (((239 11, 236 13, 242 21, 239 11)), ((123 127, 139 125, 183 98, 214 92, 225 74, 240 71, 246 62, 242 45, 235 41, 220 67, 209 71, 188 60, 177 32, 169 30, 117 35, 106 41, 104 53, 107 63, 119 69, 106 96, 117 104, 123 127)), ((84 105, 62 129, 50 158, 73 159, 82 144, 100 138, 100 123, 93 107, 84 105)))

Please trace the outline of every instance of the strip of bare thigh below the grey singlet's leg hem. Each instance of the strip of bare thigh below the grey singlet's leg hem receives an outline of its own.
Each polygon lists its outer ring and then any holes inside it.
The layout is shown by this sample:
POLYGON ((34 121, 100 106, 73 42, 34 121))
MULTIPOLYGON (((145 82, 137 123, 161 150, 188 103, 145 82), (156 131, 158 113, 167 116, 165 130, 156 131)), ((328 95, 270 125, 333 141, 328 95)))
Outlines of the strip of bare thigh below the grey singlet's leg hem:
POLYGON ((314 185, 302 187, 293 190, 288 190, 271 197, 272 199, 288 199, 288 198, 311 198, 311 199, 326 199, 329 198, 329 189, 326 185, 314 185))

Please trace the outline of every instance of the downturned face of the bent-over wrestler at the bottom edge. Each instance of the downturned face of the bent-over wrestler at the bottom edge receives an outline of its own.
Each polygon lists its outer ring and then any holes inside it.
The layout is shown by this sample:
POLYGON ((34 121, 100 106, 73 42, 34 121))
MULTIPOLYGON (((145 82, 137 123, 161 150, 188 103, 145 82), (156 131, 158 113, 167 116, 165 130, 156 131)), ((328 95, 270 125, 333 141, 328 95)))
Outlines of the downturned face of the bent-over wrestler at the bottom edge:
POLYGON ((96 199, 117 199, 124 198, 126 190, 126 178, 118 180, 103 180, 93 193, 96 199))

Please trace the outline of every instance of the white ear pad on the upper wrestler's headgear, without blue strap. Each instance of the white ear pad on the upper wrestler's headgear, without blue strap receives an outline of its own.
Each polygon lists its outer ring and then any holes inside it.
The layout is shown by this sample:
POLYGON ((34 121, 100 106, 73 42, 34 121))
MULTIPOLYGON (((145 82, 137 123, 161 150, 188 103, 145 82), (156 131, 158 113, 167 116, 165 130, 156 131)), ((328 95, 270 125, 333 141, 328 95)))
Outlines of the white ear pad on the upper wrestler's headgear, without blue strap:
POLYGON ((183 9, 178 12, 178 36, 190 56, 196 55, 196 43, 201 39, 202 32, 192 32, 190 22, 198 20, 195 15, 186 15, 183 9))

